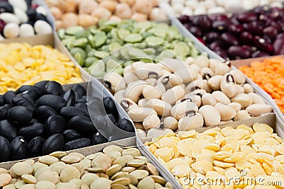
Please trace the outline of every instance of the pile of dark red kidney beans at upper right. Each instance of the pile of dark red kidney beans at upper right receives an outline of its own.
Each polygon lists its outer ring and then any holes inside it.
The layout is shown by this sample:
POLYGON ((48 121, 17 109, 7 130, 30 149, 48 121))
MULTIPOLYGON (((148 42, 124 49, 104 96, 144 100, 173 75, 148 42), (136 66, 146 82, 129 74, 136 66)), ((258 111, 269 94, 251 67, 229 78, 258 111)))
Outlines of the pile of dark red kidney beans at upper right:
POLYGON ((259 6, 231 16, 180 16, 179 19, 221 57, 246 59, 284 53, 283 17, 283 8, 259 6))

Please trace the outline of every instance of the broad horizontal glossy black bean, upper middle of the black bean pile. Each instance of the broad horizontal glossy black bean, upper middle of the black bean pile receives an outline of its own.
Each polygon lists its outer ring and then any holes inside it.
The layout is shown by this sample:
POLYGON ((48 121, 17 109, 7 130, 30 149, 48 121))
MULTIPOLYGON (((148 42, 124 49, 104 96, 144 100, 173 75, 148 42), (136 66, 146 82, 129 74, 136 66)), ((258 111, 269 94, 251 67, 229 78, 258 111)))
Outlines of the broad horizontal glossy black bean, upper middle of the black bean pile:
POLYGON ((60 110, 66 104, 66 101, 61 96, 52 94, 41 96, 38 101, 36 101, 38 107, 41 105, 48 105, 56 111, 60 110))

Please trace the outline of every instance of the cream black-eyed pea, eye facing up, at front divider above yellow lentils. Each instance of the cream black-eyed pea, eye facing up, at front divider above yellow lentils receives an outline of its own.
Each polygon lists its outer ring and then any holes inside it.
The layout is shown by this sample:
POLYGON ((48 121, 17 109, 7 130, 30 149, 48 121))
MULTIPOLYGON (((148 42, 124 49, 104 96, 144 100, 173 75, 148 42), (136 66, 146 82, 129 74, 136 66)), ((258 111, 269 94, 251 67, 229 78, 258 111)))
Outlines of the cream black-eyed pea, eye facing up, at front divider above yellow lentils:
POLYGON ((178 130, 188 131, 203 127, 204 120, 200 113, 190 113, 178 120, 178 130))

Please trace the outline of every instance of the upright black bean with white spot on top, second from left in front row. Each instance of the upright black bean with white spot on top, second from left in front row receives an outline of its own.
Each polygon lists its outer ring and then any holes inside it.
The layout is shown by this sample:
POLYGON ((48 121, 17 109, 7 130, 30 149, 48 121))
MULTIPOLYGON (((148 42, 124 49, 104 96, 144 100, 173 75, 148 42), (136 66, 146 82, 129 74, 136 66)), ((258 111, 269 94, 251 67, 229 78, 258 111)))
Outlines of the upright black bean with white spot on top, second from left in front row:
POLYGON ((28 144, 22 136, 14 138, 10 144, 11 147, 10 159, 11 160, 24 159, 26 157, 27 146, 28 144))

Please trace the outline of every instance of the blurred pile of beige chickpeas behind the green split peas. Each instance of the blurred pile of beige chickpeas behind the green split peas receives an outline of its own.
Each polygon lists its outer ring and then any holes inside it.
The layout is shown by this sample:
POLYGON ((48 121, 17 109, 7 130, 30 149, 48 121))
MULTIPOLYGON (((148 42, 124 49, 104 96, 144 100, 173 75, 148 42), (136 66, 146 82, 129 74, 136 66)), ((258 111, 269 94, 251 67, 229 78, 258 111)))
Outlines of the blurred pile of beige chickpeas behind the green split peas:
POLYGON ((165 21, 165 12, 158 8, 157 0, 45 0, 55 17, 57 29, 81 25, 97 25, 99 19, 121 21, 165 21))

